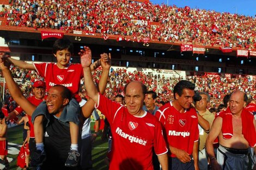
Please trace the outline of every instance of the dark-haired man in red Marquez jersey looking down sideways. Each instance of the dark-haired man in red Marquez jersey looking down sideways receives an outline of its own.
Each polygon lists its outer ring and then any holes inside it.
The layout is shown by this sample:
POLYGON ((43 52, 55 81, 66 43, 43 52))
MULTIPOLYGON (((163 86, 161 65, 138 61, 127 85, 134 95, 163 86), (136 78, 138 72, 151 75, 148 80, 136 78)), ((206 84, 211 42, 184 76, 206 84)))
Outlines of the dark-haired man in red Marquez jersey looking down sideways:
POLYGON ((156 111, 168 141, 169 169, 199 169, 198 119, 191 107, 194 88, 190 81, 179 81, 174 86, 174 100, 156 111))

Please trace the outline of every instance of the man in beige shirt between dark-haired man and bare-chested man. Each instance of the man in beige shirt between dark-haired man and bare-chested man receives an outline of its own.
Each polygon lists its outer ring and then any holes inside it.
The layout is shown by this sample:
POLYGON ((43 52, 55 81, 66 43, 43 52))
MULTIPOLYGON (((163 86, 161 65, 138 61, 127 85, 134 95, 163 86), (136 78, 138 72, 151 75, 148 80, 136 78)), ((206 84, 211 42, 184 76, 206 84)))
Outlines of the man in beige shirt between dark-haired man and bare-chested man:
POLYGON ((207 109, 210 102, 210 95, 206 92, 199 92, 202 98, 195 102, 197 116, 198 116, 198 129, 199 129, 199 168, 208 169, 208 156, 206 156, 205 142, 208 137, 212 122, 214 122, 214 114, 207 109))

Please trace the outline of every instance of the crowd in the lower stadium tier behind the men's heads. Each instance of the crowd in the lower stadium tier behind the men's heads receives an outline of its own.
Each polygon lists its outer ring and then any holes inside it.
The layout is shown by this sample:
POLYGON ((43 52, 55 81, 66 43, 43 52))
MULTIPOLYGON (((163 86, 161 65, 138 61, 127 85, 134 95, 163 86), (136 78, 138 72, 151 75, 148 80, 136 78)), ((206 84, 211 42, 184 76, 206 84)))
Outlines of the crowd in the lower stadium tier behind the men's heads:
MULTIPOLYGON (((34 71, 25 70, 19 67, 11 67, 11 72, 14 78, 17 78, 17 83, 25 96, 32 96, 32 85, 36 80, 42 80, 34 71)), ((93 77, 99 83, 101 68, 93 71, 93 77)), ((1 77, 2 73, 0 73, 1 77)), ((141 71, 127 72, 125 68, 112 69, 109 75, 105 95, 109 99, 114 99, 118 94, 124 95, 125 84, 130 81, 141 81, 148 87, 149 91, 158 92, 157 102, 167 102, 173 99, 174 85, 183 79, 182 77, 164 78, 153 73, 144 73, 141 71), (159 77, 157 79, 157 76, 159 77), (157 83, 158 80, 158 83, 157 83)), ((203 74, 203 75, 188 75, 186 80, 196 84, 196 91, 206 91, 211 96, 211 101, 208 108, 217 108, 222 103, 223 97, 234 90, 242 90, 247 93, 248 98, 256 97, 256 79, 251 79, 249 76, 235 75, 234 77, 222 77, 219 74, 203 74)), ((84 88, 82 88, 84 89, 84 88)), ((86 96, 86 90, 82 91, 86 96)), ((8 90, 5 91, 5 99, 9 100, 10 95, 8 90)), ((9 103, 9 102, 7 102, 9 103)))

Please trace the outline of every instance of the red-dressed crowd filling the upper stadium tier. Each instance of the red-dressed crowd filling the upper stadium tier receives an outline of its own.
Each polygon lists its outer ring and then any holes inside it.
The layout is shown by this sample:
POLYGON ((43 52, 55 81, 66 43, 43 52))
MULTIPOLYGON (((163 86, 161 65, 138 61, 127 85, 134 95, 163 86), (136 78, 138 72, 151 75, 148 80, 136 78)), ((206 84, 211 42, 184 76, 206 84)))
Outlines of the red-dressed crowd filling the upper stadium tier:
POLYGON ((256 48, 255 17, 135 1, 13 1, 8 26, 120 35, 133 41, 256 48))

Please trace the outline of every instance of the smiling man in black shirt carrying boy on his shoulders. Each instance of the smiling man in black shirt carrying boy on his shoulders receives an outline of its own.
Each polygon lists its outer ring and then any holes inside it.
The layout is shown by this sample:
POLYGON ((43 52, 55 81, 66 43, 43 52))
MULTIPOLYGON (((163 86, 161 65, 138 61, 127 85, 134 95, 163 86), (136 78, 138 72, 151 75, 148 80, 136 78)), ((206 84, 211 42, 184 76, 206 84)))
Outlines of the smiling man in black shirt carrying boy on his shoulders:
MULTIPOLYGON (((44 102, 42 102, 38 108, 26 99, 19 87, 11 77, 9 70, 9 64, 7 61, 0 62, 0 68, 3 72, 4 78, 9 87, 9 92, 15 99, 15 101, 26 111, 29 116, 35 115, 35 112, 44 112, 44 144, 46 161, 42 164, 42 169, 78 169, 78 167, 66 167, 65 161, 68 156, 71 144, 70 128, 68 122, 63 122, 64 112, 76 112, 73 107, 68 109, 67 104, 70 103, 71 92, 67 87, 62 85, 56 85, 48 90, 48 96, 44 102), (45 104, 46 103, 46 104, 45 104), (33 113, 34 112, 34 113, 33 113)), ((109 70, 109 69, 108 69, 109 70)), ((108 70, 103 69, 102 77, 99 83, 99 87, 106 86, 108 70), (102 83, 103 81, 105 83, 102 83), (101 85, 102 84, 102 85, 101 85), (104 85, 103 85, 104 84, 104 85)), ((87 115, 92 114, 94 110, 93 100, 88 100, 84 105, 87 110, 87 115)), ((66 115, 66 114, 64 114, 66 115)), ((85 116, 85 115, 84 115, 85 116)), ((36 156, 36 155, 35 155, 36 156)), ((34 157, 35 157, 34 156, 34 157)), ((35 159, 42 159, 35 158, 35 159)))

